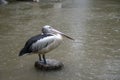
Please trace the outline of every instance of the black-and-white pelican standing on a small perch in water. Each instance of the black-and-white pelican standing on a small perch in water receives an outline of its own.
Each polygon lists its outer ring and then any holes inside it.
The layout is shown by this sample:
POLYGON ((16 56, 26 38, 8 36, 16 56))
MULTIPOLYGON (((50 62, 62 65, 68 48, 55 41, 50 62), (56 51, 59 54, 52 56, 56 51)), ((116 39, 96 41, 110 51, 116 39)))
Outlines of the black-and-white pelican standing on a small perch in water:
POLYGON ((51 26, 45 25, 42 28, 41 34, 31 37, 25 43, 25 46, 19 53, 19 56, 37 53, 39 60, 43 61, 44 64, 47 64, 45 54, 58 47, 63 40, 63 36, 74 40, 51 26))

